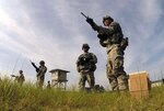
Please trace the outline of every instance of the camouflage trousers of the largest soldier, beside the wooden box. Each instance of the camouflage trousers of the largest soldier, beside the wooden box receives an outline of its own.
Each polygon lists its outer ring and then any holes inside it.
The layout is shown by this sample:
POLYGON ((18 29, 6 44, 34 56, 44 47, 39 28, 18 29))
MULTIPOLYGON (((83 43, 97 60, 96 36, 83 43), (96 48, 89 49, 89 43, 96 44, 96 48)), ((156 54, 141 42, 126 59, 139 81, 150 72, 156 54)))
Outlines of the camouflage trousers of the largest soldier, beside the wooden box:
POLYGON ((107 78, 113 90, 128 89, 128 79, 124 70, 124 55, 117 45, 113 46, 107 54, 107 78))

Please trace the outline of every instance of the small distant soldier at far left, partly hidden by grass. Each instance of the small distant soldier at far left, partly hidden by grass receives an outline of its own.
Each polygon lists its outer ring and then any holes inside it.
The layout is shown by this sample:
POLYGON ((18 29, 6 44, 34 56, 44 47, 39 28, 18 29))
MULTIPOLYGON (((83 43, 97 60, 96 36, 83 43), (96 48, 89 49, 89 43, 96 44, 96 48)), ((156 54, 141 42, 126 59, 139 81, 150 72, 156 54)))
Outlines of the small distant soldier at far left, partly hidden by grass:
POLYGON ((21 86, 25 81, 25 78, 24 78, 24 75, 23 75, 23 70, 19 71, 19 76, 11 75, 11 77, 15 77, 15 81, 17 81, 21 86))

